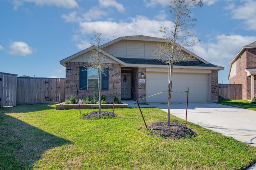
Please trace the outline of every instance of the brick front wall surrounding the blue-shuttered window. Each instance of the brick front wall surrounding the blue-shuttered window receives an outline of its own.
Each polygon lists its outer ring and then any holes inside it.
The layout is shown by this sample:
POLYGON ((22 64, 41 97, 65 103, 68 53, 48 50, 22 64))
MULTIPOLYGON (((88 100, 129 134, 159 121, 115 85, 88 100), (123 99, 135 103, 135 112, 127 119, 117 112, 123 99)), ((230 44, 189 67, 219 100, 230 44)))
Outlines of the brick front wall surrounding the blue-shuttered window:
MULTIPOLYGON (((68 62, 66 63, 66 97, 65 100, 70 100, 70 96, 75 96, 77 99, 76 85, 79 87, 79 67, 85 66, 90 67, 89 63, 80 62, 68 62)), ((120 64, 109 64, 109 81, 108 91, 102 91, 102 96, 106 96, 106 100, 113 100, 113 83, 114 83, 114 96, 121 100, 121 65, 120 64)), ((95 90, 98 100, 98 90, 95 90)), ((90 97, 93 101, 93 90, 79 90, 79 98, 86 100, 86 97, 90 97)))

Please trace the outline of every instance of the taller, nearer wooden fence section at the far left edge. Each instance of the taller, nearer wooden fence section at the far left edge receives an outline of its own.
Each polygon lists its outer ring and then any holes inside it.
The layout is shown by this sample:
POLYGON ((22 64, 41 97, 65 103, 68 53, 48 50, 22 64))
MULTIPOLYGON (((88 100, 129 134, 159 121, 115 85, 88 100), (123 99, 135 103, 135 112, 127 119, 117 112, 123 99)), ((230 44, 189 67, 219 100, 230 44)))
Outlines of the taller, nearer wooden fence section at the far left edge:
POLYGON ((0 106, 16 106, 17 74, 0 72, 0 106))

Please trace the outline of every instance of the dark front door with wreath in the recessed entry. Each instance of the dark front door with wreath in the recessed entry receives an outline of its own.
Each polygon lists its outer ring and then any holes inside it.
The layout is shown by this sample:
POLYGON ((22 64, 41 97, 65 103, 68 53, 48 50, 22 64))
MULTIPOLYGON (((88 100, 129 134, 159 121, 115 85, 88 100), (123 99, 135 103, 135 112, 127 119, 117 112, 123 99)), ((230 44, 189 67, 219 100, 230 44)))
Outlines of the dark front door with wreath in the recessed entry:
POLYGON ((121 84, 121 98, 130 99, 131 98, 131 74, 122 73, 122 84, 121 84))

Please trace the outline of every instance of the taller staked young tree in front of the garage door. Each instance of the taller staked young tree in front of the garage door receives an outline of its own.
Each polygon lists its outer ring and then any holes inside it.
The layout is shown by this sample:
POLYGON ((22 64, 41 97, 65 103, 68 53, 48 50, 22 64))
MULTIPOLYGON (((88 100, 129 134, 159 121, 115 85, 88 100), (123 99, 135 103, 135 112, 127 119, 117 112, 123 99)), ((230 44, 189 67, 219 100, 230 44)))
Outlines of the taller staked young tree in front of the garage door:
POLYGON ((184 47, 192 47, 197 41, 190 29, 194 27, 196 19, 191 18, 190 8, 203 6, 202 0, 172 0, 170 13, 172 13, 171 30, 160 27, 163 38, 166 42, 158 44, 154 55, 162 62, 168 64, 168 126, 170 126, 170 100, 172 94, 172 68, 173 63, 181 60, 188 60, 191 56, 182 52, 184 47))

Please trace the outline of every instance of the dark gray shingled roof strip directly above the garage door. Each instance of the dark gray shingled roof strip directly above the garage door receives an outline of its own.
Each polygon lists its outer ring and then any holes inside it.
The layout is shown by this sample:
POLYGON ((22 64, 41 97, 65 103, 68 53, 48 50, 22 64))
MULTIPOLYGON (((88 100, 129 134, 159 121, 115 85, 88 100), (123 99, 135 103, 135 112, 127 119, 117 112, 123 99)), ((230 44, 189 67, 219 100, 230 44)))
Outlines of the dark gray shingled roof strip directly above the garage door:
MULTIPOLYGON (((127 64, 150 64, 150 65, 168 65, 167 63, 162 63, 158 59, 134 59, 134 58, 120 58, 117 59, 123 61, 127 64)), ((174 66, 203 66, 203 67, 218 67, 213 64, 206 64, 198 61, 179 61, 173 63, 174 66)))

